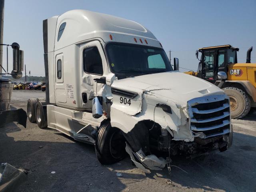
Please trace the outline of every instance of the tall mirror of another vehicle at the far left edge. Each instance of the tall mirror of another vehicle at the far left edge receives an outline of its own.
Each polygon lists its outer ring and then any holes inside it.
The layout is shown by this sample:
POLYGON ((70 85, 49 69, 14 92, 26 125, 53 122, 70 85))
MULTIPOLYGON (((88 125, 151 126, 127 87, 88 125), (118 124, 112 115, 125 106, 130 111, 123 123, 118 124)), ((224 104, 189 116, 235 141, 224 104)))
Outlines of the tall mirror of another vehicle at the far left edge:
POLYGON ((13 53, 13 70, 12 77, 18 79, 22 76, 23 71, 23 51, 20 50, 20 45, 18 43, 12 43, 12 53, 13 53))

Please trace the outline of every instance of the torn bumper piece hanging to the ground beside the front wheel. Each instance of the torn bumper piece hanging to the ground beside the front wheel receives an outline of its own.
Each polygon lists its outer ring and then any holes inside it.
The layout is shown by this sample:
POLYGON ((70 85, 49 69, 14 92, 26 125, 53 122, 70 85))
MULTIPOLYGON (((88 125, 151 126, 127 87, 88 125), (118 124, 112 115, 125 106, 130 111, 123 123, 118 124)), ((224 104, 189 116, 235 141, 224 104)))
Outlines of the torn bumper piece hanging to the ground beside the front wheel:
POLYGON ((146 173, 150 173, 150 170, 162 170, 166 165, 166 160, 164 158, 158 158, 155 155, 145 156, 142 150, 134 153, 132 148, 126 143, 126 152, 130 155, 132 162, 139 169, 146 173))

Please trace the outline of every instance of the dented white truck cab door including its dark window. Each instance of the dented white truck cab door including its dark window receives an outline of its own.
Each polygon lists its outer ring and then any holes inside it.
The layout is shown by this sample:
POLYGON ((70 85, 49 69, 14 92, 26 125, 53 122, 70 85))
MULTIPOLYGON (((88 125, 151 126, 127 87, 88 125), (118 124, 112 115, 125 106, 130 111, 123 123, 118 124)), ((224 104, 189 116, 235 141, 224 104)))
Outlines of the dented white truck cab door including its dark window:
POLYGON ((80 46, 82 58, 82 87, 81 103, 83 108, 92 109, 92 98, 103 84, 96 83, 94 79, 102 78, 108 72, 107 62, 99 41, 88 42, 80 46))

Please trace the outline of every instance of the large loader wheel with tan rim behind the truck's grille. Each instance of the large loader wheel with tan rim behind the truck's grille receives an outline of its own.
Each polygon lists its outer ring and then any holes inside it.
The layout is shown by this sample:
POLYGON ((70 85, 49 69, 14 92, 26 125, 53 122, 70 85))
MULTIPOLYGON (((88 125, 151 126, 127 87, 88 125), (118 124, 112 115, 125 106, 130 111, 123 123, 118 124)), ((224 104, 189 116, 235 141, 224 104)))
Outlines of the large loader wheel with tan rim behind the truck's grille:
POLYGON ((248 114, 251 108, 251 100, 246 92, 236 87, 222 89, 230 98, 230 112, 232 119, 240 119, 248 114))

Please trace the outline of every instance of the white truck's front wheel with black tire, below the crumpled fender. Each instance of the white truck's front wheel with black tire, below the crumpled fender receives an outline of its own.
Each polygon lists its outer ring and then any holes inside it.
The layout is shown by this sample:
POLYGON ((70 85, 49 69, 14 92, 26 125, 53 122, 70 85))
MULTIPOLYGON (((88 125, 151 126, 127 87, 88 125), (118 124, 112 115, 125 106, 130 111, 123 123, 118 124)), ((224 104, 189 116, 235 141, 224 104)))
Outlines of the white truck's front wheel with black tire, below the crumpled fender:
POLYGON ((119 162, 125 155, 125 139, 118 128, 111 127, 106 120, 100 126, 95 142, 96 156, 101 164, 108 165, 119 162))

